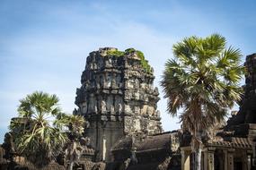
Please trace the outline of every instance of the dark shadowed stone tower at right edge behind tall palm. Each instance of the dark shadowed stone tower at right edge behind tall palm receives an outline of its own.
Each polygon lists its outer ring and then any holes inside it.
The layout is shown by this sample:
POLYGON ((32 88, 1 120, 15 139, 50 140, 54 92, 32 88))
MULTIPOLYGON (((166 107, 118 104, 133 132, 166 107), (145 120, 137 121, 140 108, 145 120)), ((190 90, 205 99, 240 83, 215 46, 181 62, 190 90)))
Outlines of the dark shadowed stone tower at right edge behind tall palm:
POLYGON ((244 66, 246 74, 243 100, 239 111, 227 121, 225 130, 234 132, 235 136, 254 138, 256 128, 252 124, 256 123, 256 54, 247 55, 244 66))

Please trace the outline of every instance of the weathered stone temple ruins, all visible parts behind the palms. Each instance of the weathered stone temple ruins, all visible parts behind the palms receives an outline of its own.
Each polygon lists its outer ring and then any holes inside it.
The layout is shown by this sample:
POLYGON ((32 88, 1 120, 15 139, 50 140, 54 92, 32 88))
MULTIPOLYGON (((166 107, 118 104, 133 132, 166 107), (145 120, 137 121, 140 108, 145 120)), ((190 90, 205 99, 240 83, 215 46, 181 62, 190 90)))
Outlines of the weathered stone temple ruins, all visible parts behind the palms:
MULTIPOLYGON (((245 66, 248 72, 240 110, 206 135, 204 170, 256 169, 256 54, 246 57, 245 66)), ((84 132, 90 142, 84 145, 74 169, 192 169, 190 134, 163 132, 154 70, 139 51, 119 52, 110 47, 93 51, 87 57, 81 84, 76 90, 78 108, 74 114, 84 115, 90 123, 84 132)), ((12 137, 8 133, 5 137, 0 147, 0 170, 25 161, 14 157, 12 137)), ((57 163, 48 169, 65 168, 63 161, 57 163)))

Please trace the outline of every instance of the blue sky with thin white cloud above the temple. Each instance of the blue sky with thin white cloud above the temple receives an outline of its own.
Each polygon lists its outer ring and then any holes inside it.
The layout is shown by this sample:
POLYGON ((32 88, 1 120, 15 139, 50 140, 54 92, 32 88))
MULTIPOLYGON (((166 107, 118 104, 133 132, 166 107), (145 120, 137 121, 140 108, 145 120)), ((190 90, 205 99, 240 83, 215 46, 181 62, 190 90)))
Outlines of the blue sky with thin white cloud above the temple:
MULTIPOLYGON (((57 94, 72 113, 86 56, 99 47, 143 51, 157 87, 182 38, 219 33, 243 55, 255 53, 255 7, 253 0, 0 0, 0 142, 19 99, 35 90, 57 94)), ((160 97, 163 129, 179 128, 160 97)))

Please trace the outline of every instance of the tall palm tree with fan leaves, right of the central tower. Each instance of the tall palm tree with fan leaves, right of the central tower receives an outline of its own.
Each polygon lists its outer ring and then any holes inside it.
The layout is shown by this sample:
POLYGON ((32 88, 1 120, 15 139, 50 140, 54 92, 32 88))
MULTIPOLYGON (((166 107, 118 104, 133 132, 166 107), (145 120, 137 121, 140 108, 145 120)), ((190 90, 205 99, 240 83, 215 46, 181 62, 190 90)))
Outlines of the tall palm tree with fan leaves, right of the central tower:
POLYGON ((173 46, 173 54, 161 81, 164 98, 171 115, 182 109, 181 127, 192 135, 195 169, 200 170, 203 133, 241 99, 242 55, 239 49, 226 47, 225 38, 218 34, 184 38, 173 46))

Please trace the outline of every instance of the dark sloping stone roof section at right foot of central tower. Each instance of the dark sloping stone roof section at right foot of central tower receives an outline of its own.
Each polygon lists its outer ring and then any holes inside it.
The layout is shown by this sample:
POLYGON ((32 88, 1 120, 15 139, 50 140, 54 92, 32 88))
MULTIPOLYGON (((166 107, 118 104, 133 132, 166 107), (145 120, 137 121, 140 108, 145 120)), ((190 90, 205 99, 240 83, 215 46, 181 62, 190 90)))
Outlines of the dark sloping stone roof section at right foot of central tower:
POLYGON ((129 134, 111 149, 111 169, 181 169, 181 131, 129 134))

